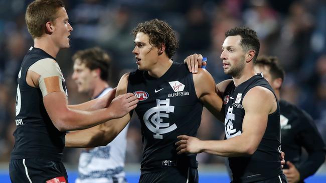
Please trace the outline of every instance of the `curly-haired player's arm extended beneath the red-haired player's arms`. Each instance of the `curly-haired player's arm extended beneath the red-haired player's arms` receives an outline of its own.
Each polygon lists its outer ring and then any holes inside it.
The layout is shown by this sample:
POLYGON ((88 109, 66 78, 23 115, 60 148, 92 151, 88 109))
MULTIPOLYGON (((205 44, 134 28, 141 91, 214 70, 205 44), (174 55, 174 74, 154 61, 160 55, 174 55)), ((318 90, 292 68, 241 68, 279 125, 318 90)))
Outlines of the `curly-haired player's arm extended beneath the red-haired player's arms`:
MULTIPOLYGON (((127 91, 129 74, 124 74, 118 84, 116 95, 127 91)), ((92 128, 66 134, 66 147, 95 147, 111 142, 127 125, 130 113, 117 119, 106 121, 92 128)))

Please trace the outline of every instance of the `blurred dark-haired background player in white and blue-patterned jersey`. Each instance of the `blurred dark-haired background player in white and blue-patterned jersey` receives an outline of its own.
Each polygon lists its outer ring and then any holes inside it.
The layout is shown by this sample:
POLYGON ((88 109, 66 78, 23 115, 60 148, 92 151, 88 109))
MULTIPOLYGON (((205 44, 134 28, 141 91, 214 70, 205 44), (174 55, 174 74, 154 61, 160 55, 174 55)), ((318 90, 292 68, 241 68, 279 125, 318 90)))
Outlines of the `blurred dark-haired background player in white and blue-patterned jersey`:
MULTIPOLYGON (((112 89, 109 85, 110 57, 99 47, 77 51, 73 57, 75 80, 78 92, 90 99, 102 97, 112 89)), ((124 160, 128 125, 106 146, 82 150, 78 164, 77 183, 126 182, 124 160)))

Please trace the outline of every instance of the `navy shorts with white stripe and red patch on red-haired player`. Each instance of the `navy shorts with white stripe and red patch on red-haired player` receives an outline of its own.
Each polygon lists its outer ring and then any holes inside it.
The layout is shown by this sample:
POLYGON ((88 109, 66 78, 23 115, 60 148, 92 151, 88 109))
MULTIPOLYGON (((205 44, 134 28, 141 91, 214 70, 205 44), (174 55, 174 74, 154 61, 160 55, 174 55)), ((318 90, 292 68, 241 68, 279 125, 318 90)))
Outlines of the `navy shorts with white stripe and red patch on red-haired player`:
POLYGON ((13 183, 68 182, 67 171, 62 162, 42 158, 12 159, 9 163, 9 174, 13 183))

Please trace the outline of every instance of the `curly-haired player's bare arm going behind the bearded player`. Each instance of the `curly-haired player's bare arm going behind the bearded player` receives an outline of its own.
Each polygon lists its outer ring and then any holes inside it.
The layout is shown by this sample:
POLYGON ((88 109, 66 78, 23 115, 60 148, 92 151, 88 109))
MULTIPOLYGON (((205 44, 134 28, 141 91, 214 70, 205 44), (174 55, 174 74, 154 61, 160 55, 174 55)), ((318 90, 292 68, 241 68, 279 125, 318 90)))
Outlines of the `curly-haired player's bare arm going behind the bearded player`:
POLYGON ((212 75, 205 69, 199 68, 197 74, 193 74, 194 85, 197 97, 201 100, 204 106, 223 121, 222 99, 217 95, 215 81, 212 75))

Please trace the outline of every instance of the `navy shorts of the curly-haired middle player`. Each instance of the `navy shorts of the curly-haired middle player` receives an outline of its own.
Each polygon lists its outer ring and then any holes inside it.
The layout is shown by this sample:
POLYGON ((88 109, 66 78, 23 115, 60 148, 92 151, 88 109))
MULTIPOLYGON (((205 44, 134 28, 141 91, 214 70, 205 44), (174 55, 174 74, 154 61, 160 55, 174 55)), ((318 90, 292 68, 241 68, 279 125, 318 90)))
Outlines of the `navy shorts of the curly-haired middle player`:
POLYGON ((198 183, 198 170, 192 167, 167 166, 161 171, 140 174, 139 183, 198 183))

